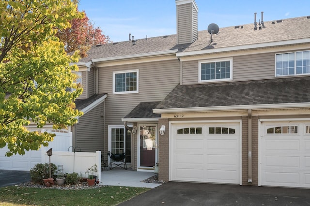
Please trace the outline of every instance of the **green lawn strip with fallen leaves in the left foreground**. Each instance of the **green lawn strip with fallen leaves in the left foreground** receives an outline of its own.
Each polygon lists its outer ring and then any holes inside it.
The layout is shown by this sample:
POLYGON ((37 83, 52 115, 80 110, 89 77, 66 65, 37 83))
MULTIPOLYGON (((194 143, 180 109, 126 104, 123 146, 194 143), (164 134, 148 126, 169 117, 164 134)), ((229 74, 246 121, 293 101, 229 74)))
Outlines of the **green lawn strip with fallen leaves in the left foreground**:
POLYGON ((0 188, 0 206, 115 206, 149 188, 104 186, 86 190, 0 188))

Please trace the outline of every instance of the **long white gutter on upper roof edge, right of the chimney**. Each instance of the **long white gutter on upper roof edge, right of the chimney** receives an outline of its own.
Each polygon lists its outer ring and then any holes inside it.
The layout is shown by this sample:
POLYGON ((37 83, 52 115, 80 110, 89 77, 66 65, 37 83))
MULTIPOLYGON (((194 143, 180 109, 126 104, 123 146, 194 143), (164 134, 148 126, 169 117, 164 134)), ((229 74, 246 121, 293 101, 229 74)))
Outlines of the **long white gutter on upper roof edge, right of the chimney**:
POLYGON ((193 55, 212 54, 212 53, 218 53, 218 52, 257 49, 257 48, 263 48, 263 47, 268 47, 268 46, 281 46, 281 45, 288 45, 288 44, 303 44, 303 43, 310 43, 310 38, 285 40, 285 41, 279 41, 279 42, 259 43, 259 44, 239 45, 239 46, 229 46, 229 47, 214 48, 214 49, 203 49, 203 50, 198 50, 198 51, 179 52, 176 54, 176 57, 186 57, 186 56, 193 56, 193 55))

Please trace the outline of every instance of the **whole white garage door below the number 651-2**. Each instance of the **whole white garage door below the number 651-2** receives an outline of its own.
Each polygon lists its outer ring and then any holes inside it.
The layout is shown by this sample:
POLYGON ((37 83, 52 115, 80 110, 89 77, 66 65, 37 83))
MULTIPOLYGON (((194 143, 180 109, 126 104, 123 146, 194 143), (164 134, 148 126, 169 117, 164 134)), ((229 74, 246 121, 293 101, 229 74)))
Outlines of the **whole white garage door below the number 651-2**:
POLYGON ((240 184, 240 122, 173 123, 171 180, 240 184))

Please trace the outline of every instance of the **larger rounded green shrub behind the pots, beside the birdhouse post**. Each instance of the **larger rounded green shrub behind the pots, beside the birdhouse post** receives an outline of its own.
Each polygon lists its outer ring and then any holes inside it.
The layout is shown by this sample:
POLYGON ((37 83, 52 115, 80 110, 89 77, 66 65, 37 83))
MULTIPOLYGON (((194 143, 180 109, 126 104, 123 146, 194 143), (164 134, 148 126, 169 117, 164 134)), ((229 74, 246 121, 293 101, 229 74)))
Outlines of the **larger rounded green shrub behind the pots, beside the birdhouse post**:
MULTIPOLYGON (((51 177, 55 178, 54 174, 57 170, 57 166, 54 163, 50 163, 51 177)), ((49 163, 37 163, 30 170, 31 181, 34 183, 43 184, 43 179, 49 178, 49 163)))

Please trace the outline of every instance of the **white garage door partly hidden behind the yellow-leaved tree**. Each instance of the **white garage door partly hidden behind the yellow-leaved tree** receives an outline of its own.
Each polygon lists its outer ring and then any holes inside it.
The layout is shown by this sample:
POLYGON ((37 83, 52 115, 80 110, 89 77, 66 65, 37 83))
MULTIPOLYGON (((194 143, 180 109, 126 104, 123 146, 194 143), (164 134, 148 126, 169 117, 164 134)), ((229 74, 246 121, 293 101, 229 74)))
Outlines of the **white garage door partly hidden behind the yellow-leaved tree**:
POLYGON ((48 148, 53 148, 54 151, 67 151, 68 147, 72 145, 72 133, 66 131, 53 133, 56 136, 54 141, 49 143, 48 147, 41 147, 37 151, 26 151, 25 155, 17 154, 6 157, 5 153, 8 151, 8 148, 0 148, 0 169, 29 171, 35 164, 41 163, 42 149, 46 151, 48 148))

